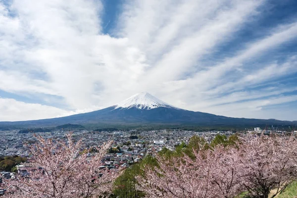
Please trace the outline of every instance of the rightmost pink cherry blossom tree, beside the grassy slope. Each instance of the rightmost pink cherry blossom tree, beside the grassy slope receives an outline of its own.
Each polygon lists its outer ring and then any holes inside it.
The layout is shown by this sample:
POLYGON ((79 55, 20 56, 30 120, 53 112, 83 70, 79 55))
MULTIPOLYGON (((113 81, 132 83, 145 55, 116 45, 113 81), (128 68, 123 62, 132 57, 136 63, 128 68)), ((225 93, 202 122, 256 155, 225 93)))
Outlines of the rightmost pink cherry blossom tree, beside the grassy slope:
POLYGON ((268 198, 272 189, 282 191, 297 178, 297 140, 291 136, 244 137, 240 145, 242 184, 250 197, 268 198))

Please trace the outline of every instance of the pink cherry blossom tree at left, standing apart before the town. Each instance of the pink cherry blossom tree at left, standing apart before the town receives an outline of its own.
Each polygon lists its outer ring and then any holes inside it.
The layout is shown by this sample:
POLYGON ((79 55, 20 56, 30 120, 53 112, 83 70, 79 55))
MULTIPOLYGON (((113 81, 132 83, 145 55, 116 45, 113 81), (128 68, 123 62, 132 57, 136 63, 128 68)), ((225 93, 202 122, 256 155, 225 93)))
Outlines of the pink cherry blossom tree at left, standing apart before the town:
POLYGON ((111 142, 96 149, 88 157, 82 141, 76 143, 72 134, 67 141, 53 141, 35 135, 38 143, 29 146, 32 158, 29 178, 6 180, 7 198, 98 198, 108 196, 113 181, 121 171, 99 170, 111 142))

